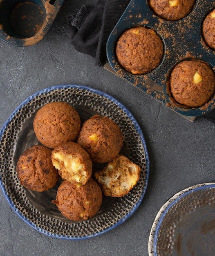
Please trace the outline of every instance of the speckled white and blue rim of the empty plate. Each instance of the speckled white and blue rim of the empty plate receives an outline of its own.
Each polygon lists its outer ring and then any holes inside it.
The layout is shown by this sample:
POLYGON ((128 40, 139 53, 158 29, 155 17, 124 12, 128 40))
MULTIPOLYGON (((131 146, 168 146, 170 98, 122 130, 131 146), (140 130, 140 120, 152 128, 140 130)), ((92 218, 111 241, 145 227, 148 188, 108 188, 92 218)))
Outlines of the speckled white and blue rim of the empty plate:
POLYGON ((152 224, 152 228, 150 230, 149 240, 148 240, 148 254, 149 256, 155 256, 154 250, 155 250, 155 233, 157 230, 157 227, 159 226, 159 223, 163 220, 163 218, 166 215, 166 212, 168 209, 175 204, 178 200, 183 198, 184 196, 188 195, 192 191, 196 191, 199 189, 204 189, 207 187, 215 187, 215 182, 208 182, 208 183, 201 183, 201 184, 195 184, 193 186, 190 186, 186 189, 183 189, 177 193, 175 193, 171 198, 169 198, 159 209, 157 212, 157 215, 155 216, 155 219, 152 224))

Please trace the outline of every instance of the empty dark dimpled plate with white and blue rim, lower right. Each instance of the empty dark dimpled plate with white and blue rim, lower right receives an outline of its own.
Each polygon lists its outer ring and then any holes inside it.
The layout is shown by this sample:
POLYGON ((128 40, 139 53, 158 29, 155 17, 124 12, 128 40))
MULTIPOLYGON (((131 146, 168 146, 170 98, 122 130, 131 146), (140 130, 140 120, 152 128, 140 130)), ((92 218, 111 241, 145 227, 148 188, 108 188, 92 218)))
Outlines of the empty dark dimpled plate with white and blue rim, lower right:
POLYGON ((155 218, 150 256, 215 255, 215 183, 198 184, 174 195, 155 218))

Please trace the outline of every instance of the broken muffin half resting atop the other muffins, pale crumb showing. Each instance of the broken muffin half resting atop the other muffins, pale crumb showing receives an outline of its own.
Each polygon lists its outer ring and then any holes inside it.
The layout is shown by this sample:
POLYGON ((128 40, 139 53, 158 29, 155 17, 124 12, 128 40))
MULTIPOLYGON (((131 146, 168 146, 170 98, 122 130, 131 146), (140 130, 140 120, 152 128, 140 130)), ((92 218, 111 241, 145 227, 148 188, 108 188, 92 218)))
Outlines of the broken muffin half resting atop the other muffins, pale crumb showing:
POLYGON ((51 159, 63 180, 85 184, 92 175, 89 154, 75 142, 69 141, 54 148, 51 159))

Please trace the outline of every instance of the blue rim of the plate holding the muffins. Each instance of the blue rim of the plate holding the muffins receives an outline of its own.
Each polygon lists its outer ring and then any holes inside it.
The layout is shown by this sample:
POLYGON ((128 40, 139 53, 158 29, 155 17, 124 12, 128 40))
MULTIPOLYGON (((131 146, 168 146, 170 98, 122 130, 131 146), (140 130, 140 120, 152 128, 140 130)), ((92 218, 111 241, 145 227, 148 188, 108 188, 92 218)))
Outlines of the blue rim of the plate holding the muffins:
POLYGON ((2 135, 4 133, 4 130, 7 128, 7 125, 9 124, 9 122, 13 119, 13 117, 16 115, 16 113, 20 110, 20 108, 22 108, 24 105, 26 105, 27 103, 29 103, 29 101, 43 93, 47 93, 47 92, 51 92, 54 90, 62 90, 62 89, 81 89, 81 90, 87 90, 90 92, 93 92, 95 94, 98 94, 99 96, 103 96, 111 101, 113 101, 114 103, 116 103, 116 105, 121 108, 126 115, 131 119, 132 124, 134 125, 135 129, 137 130, 141 142, 143 144, 143 148, 144 148, 144 153, 145 153, 145 158, 146 158, 146 171, 147 171, 147 175, 146 175, 146 186, 144 186, 144 189, 141 192, 141 196, 139 198, 139 200, 136 202, 136 204, 134 205, 134 207, 132 209, 130 209, 130 211, 123 217, 121 218, 119 221, 117 221, 114 225, 105 228, 101 231, 98 232, 94 232, 90 235, 86 235, 86 236, 72 236, 72 235, 61 235, 61 234, 56 234, 56 233, 52 233, 52 232, 48 232, 40 227, 38 227, 38 225, 36 225, 34 222, 32 222, 31 220, 29 220, 29 218, 25 217, 15 206, 15 204, 13 203, 13 200, 11 200, 8 196, 8 193, 6 191, 6 188, 4 187, 4 184, 2 182, 2 178, 0 176, 0 187, 2 189, 2 193, 4 195, 4 197, 6 198, 9 206, 11 207, 11 209, 16 213, 16 215, 18 215, 25 223, 27 223, 27 225, 29 225, 30 227, 32 227, 33 229, 35 229, 36 231, 39 231, 42 234, 45 234, 46 236, 49 237, 54 237, 54 238, 58 238, 58 239, 64 239, 64 240, 85 240, 88 238, 92 238, 92 237, 96 237, 96 236, 100 236, 102 234, 105 234, 109 231, 111 231, 112 229, 118 227, 119 225, 123 224, 126 220, 128 220, 128 218, 130 218, 133 213, 139 208, 143 197, 146 193, 147 190, 147 186, 148 186, 148 180, 149 180, 149 173, 150 173, 150 161, 149 161, 149 156, 148 156, 148 150, 146 147, 146 141, 144 139, 144 135, 143 132, 137 122, 137 120, 135 119, 135 117, 132 115, 132 113, 130 112, 130 110, 128 110, 128 108, 126 108, 120 101, 118 101, 116 98, 110 96, 110 94, 107 94, 101 90, 97 90, 94 88, 91 88, 87 85, 77 85, 77 84, 62 84, 62 85, 54 85, 54 86, 50 86, 47 88, 44 88, 42 90, 38 90, 37 92, 31 94, 29 97, 27 97, 27 99, 25 99, 24 101, 22 101, 22 103, 19 104, 19 106, 11 113, 11 115, 8 117, 7 121, 3 124, 2 128, 0 129, 0 141, 2 140, 2 135))

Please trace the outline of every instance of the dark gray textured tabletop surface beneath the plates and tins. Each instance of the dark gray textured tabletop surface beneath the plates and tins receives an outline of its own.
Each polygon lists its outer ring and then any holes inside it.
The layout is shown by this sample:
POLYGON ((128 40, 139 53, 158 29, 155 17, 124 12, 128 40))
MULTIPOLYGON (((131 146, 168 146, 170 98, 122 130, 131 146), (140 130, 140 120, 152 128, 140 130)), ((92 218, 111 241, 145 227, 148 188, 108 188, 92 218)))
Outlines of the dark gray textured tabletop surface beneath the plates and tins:
POLYGON ((23 222, 0 190, 0 255, 148 255, 148 238, 160 207, 178 191, 215 182, 214 124, 205 118, 193 123, 122 81, 94 59, 76 52, 67 16, 82 4, 65 0, 45 38, 31 47, 0 41, 0 126, 29 95, 58 84, 89 85, 123 103, 143 130, 150 157, 150 178, 139 209, 123 225, 88 240, 49 238, 23 222))

